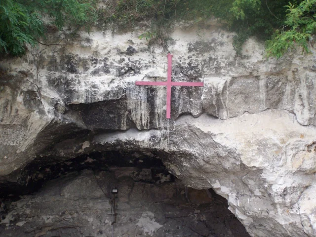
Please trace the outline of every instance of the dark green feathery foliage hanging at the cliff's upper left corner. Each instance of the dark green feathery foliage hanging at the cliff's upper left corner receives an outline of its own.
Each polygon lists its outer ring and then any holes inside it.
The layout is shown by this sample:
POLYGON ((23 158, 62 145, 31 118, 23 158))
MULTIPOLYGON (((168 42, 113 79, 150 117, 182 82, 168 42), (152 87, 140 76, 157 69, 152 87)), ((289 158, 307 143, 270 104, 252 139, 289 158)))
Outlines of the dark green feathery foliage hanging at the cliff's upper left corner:
POLYGON ((1 0, 0 52, 25 53, 26 44, 35 46, 44 36, 43 17, 48 16, 58 29, 65 25, 83 25, 94 14, 90 0, 1 0))

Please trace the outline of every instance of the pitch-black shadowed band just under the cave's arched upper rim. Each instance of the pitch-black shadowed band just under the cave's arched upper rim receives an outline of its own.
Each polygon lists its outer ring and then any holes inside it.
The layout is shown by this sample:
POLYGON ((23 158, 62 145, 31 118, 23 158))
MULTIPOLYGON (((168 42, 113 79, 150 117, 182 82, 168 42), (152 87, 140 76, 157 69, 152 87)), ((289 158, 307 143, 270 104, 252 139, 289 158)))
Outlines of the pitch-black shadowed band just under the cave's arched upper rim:
MULTIPOLYGON (((83 154, 76 158, 38 157, 18 173, 17 182, 3 182, 0 184, 0 198, 17 200, 21 195, 33 194, 49 180, 56 179, 70 172, 81 170, 104 170, 114 167, 137 167, 151 169, 152 173, 170 174, 158 152, 155 151, 105 151, 83 154)), ((155 177, 153 177, 153 182, 155 177)))

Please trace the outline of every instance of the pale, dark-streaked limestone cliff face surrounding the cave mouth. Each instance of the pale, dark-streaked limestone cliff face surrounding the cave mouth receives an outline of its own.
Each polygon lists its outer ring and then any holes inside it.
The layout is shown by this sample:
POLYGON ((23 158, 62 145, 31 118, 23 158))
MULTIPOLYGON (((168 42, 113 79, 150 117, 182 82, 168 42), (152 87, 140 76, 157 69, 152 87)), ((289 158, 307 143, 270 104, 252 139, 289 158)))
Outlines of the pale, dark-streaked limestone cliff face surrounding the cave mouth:
POLYGON ((3 187, 25 182, 34 159, 155 151, 187 186, 225 197, 251 236, 316 236, 315 42, 268 61, 254 39, 236 56, 234 33, 216 25, 175 29, 173 81, 204 87, 173 87, 168 120, 165 87, 135 85, 166 80, 167 52, 143 32, 80 32, 1 61, 3 187))

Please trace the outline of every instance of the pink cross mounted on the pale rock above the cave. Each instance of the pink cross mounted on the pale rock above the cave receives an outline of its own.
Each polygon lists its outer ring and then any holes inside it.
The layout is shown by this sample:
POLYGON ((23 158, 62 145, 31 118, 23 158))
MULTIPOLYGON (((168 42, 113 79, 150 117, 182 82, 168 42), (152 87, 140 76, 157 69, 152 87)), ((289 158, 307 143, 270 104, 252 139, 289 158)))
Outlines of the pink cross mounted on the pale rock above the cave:
POLYGON ((171 81, 172 55, 168 53, 167 81, 136 81, 136 85, 166 85, 167 86, 167 118, 171 114, 171 86, 203 86, 203 82, 173 82, 171 81))

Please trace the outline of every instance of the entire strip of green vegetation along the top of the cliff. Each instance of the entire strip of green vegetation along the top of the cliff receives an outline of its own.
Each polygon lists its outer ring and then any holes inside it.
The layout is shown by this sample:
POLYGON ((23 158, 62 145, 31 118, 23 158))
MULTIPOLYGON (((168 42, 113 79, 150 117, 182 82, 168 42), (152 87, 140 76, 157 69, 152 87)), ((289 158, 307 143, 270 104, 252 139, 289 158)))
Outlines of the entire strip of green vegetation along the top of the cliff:
POLYGON ((316 32, 315 10, 316 0, 1 0, 0 51, 23 55, 26 44, 43 43, 54 28, 129 27, 140 20, 152 25, 140 38, 164 45, 166 29, 175 21, 202 23, 216 16, 237 32, 237 53, 245 40, 256 36, 266 42, 267 57, 279 58, 295 45, 309 52, 308 41, 316 32), (44 23, 44 16, 51 21, 44 23))

